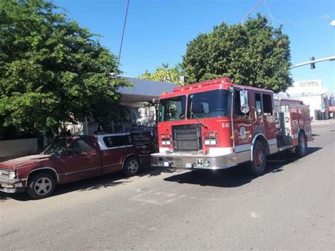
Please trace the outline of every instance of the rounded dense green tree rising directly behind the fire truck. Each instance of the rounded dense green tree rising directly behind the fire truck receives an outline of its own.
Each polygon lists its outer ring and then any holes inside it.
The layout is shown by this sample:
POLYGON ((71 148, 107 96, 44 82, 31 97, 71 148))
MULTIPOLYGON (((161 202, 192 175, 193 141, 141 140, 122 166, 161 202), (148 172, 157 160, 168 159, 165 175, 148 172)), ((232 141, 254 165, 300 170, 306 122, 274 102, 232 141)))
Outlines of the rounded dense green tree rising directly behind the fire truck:
POLYGON ((229 76, 233 83, 275 92, 292 85, 289 67, 288 36, 259 14, 245 25, 221 23, 201 33, 187 44, 182 62, 189 83, 229 76))

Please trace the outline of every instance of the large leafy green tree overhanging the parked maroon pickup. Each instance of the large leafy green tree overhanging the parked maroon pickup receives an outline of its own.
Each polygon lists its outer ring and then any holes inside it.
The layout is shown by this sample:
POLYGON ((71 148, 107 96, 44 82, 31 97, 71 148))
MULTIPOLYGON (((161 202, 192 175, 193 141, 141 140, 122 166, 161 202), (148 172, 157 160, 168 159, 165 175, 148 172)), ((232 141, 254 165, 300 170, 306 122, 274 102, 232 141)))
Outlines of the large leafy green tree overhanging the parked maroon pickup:
POLYGON ((1 127, 40 139, 72 115, 118 116, 117 89, 129 83, 112 73, 114 54, 54 4, 0 0, 1 127))

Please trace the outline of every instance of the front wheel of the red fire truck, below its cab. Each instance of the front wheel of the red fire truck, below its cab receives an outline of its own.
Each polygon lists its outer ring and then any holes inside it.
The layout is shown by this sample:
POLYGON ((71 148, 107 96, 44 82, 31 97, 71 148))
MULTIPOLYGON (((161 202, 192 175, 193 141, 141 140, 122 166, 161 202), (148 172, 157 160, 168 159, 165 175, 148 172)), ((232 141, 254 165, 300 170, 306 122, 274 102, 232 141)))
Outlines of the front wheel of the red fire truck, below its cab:
POLYGON ((266 167, 266 154, 264 145, 261 141, 256 141, 253 149, 253 160, 249 165, 249 173, 260 176, 264 173, 266 167))

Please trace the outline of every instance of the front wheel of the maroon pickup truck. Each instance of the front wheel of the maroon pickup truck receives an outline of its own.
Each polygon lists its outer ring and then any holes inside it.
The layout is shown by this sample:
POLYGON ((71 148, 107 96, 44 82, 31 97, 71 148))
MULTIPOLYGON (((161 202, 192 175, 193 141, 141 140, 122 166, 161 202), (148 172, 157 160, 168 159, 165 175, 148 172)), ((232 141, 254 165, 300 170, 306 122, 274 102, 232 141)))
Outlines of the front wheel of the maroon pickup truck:
POLYGON ((37 173, 28 180, 27 192, 33 199, 49 197, 54 192, 56 181, 49 173, 37 173))

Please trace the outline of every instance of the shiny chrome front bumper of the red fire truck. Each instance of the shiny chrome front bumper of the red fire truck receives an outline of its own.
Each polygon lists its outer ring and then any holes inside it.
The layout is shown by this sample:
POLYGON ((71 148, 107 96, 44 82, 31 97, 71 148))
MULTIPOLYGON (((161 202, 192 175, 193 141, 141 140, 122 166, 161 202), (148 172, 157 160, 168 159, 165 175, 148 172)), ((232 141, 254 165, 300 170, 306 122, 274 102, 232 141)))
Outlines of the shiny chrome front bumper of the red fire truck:
POLYGON ((212 156, 194 153, 153 153, 151 165, 166 168, 225 169, 237 165, 235 153, 212 156))

